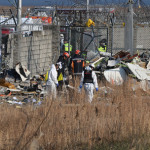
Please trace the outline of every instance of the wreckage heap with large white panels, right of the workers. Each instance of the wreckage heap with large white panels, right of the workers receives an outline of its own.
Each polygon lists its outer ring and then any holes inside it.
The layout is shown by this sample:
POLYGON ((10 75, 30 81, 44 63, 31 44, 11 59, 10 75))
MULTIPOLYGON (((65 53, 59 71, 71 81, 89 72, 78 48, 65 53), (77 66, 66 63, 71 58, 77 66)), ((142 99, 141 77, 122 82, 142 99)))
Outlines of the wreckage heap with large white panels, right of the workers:
POLYGON ((90 61, 95 65, 98 75, 104 76, 109 83, 121 85, 129 78, 133 78, 141 84, 144 91, 150 88, 149 51, 141 53, 137 51, 133 56, 127 51, 120 51, 112 56, 103 52, 101 56, 101 58, 96 56, 90 61))

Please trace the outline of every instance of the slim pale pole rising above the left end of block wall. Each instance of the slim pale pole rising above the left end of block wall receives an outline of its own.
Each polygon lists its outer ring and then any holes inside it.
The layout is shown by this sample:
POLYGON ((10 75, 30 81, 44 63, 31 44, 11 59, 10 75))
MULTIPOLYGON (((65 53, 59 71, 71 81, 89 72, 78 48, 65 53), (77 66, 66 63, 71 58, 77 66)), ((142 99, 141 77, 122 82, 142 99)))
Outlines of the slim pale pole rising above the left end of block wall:
POLYGON ((17 31, 21 31, 22 0, 17 3, 17 31))

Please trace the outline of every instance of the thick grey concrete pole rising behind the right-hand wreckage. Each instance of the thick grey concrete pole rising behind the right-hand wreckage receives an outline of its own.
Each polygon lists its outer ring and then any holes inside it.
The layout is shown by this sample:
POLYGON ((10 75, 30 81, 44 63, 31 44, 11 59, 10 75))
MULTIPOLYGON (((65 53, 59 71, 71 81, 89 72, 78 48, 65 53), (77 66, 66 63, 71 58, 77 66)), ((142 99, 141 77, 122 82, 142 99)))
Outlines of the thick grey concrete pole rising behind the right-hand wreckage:
POLYGON ((128 0, 129 8, 125 24, 125 49, 129 50, 131 55, 134 54, 133 50, 133 37, 134 37, 134 28, 133 28, 133 0, 128 0))

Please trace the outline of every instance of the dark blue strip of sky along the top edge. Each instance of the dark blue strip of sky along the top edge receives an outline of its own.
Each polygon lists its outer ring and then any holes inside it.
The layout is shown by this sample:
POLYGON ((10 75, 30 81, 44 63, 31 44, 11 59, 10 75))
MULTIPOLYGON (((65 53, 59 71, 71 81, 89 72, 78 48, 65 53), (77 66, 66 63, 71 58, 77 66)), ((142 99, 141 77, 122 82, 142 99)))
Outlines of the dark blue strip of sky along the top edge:
MULTIPOLYGON (((8 1, 15 1, 15 0, 0 0, 0 6, 3 5, 11 5, 8 1)), ((17 0, 16 0, 17 1, 17 0)), ((23 6, 39 6, 39 5, 72 5, 73 2, 86 2, 86 0, 22 0, 23 6)), ((111 3, 126 3, 128 0, 89 0, 90 2, 94 1, 94 3, 99 4, 111 4, 111 3)), ((138 0, 134 0, 136 2, 138 0)), ((150 5, 150 0, 140 0, 144 4, 150 5)))

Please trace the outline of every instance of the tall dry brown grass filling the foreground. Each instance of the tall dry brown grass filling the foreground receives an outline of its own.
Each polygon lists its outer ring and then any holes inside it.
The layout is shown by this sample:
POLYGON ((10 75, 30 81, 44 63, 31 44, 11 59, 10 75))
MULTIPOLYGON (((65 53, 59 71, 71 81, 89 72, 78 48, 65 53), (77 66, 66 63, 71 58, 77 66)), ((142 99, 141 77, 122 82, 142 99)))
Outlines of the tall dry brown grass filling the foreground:
POLYGON ((84 93, 71 90, 70 96, 45 100, 37 108, 0 105, 0 149, 92 149, 125 139, 131 139, 128 149, 149 144, 149 95, 133 93, 130 83, 109 87, 114 91, 105 95, 100 90, 92 104, 84 100, 84 93))

